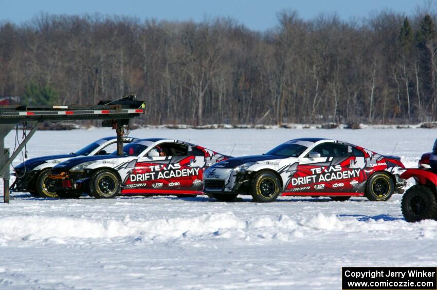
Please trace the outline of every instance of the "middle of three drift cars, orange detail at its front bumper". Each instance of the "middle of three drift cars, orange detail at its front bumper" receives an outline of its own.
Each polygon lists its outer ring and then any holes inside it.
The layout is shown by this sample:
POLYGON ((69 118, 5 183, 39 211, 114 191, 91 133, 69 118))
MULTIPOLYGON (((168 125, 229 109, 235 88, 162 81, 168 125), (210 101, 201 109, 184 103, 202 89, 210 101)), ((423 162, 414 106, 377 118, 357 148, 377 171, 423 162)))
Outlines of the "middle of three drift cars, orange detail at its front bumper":
POLYGON ((203 194, 204 170, 230 158, 188 142, 160 138, 134 141, 125 145, 123 152, 124 156, 114 152, 73 158, 54 166, 50 178, 56 181, 58 195, 203 194))

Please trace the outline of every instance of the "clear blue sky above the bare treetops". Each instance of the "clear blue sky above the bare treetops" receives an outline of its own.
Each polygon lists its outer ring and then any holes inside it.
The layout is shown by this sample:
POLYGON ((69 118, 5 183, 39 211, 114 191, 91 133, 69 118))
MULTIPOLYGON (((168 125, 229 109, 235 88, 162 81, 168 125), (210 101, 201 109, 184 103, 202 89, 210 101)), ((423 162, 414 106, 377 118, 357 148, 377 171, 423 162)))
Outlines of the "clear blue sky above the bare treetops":
POLYGON ((0 21, 20 24, 40 12, 52 14, 94 14, 136 16, 141 20, 194 20, 231 16, 250 29, 265 30, 277 24, 276 13, 298 11, 311 19, 320 13, 336 12, 342 19, 366 17, 372 11, 389 8, 407 15, 423 0, 0 0, 0 21))

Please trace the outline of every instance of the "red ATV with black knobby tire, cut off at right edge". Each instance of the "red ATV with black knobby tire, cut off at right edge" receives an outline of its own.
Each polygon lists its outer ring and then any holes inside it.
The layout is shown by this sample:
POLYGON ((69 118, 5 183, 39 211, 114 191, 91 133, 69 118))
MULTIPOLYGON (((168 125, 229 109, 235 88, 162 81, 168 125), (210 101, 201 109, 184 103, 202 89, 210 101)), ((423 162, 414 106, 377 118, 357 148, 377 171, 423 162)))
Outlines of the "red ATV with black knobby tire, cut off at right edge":
POLYGON ((411 186, 402 198, 402 214, 408 222, 426 219, 437 220, 437 140, 432 152, 422 155, 418 169, 407 169, 403 179, 413 177, 416 185, 411 186))

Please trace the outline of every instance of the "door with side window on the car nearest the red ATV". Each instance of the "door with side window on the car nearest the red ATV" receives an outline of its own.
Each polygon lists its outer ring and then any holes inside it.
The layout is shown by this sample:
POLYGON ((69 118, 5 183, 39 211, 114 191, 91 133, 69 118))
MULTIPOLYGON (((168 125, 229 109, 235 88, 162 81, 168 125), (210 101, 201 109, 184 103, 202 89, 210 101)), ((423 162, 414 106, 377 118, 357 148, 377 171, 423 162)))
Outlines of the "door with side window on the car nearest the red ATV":
POLYGON ((349 191, 359 179, 363 164, 363 152, 351 145, 336 142, 319 144, 301 158, 296 173, 290 179, 290 191, 349 191))

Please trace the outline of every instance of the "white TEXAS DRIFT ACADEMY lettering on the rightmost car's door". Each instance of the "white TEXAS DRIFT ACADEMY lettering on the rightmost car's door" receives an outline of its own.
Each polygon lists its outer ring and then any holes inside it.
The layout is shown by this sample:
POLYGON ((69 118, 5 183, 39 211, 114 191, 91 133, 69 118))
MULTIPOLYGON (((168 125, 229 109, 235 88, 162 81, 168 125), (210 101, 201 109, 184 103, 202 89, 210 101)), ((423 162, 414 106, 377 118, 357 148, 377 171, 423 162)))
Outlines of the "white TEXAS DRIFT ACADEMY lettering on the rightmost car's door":
POLYGON ((308 183, 329 182, 342 179, 359 177, 361 169, 341 171, 341 165, 311 168, 312 175, 292 178, 292 185, 305 185, 308 183))

